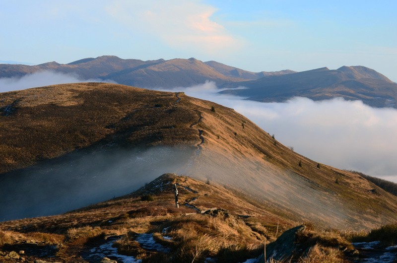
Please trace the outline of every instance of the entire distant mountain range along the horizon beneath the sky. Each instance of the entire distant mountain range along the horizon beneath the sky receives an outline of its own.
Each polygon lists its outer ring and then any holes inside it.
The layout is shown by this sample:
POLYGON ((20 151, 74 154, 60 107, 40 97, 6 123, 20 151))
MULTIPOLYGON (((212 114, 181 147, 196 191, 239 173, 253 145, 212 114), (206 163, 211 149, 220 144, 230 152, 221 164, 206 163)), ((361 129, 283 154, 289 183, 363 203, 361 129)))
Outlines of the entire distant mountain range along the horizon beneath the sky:
POLYGON ((261 102, 282 102, 296 96, 313 100, 342 97, 346 100, 361 100, 373 107, 397 108, 397 84, 364 66, 342 66, 335 70, 323 67, 302 72, 251 72, 194 58, 141 61, 102 56, 69 64, 1 64, 0 77, 20 77, 43 70, 74 73, 83 79, 113 80, 142 88, 189 87, 210 80, 226 89, 222 93, 261 102))

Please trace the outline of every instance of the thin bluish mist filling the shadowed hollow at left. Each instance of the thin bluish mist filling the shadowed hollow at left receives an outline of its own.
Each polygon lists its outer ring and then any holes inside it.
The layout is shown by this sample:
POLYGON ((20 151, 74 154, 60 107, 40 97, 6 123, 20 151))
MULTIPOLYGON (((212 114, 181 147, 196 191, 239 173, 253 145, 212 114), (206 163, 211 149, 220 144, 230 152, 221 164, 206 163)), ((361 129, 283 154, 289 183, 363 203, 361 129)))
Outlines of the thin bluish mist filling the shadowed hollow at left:
POLYGON ((192 148, 75 151, 2 174, 0 221, 60 214, 120 197, 164 173, 181 173, 192 148))

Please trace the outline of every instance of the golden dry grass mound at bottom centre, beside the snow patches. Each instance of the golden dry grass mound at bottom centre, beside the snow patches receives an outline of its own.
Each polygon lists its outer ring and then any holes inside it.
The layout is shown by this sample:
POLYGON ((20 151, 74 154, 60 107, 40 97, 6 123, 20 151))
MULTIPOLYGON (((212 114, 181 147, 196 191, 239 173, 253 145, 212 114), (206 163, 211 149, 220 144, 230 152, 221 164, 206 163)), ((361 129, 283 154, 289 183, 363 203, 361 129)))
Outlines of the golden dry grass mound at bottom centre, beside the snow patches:
MULTIPOLYGON (((137 230, 137 228, 132 228, 137 230)), ((257 238, 243 220, 233 216, 211 217, 190 215, 170 218, 153 229, 156 242, 171 248, 167 255, 149 255, 134 240, 135 231, 130 231, 117 242, 119 252, 134 255, 148 262, 171 260, 172 262, 202 262, 206 257, 214 257, 218 262, 242 262, 262 251, 262 240, 257 238), (167 233, 162 229, 167 227, 167 233), (171 236, 166 240, 163 235, 171 236)), ((264 237, 262 237, 264 239, 264 237)))

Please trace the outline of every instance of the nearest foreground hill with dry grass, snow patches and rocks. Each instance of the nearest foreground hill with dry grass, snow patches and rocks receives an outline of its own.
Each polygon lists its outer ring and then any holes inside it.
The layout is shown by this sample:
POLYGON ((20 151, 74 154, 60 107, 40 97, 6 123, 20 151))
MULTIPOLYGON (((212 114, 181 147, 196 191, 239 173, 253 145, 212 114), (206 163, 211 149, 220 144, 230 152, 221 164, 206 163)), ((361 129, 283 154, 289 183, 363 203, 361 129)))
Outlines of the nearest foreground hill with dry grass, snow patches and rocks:
POLYGON ((396 256, 396 224, 354 232, 299 225, 282 216, 235 189, 163 174, 129 195, 62 215, 0 222, 0 260, 261 263, 265 257, 347 263, 396 256), (387 243, 377 250, 368 248, 382 239, 387 243))

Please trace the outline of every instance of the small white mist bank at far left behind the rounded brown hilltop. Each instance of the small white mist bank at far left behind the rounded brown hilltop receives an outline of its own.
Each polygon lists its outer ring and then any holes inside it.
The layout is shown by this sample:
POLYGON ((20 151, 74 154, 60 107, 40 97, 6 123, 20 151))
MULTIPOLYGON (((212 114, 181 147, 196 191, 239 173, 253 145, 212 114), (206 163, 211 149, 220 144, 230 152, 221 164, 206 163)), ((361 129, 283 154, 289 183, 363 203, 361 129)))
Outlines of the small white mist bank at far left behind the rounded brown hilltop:
POLYGON ((3 77, 0 78, 0 92, 21 90, 34 87, 42 87, 55 84, 76 83, 76 82, 110 82, 113 80, 103 79, 83 79, 74 73, 61 73, 51 70, 39 71, 26 74, 22 77, 3 77))

